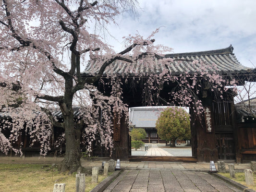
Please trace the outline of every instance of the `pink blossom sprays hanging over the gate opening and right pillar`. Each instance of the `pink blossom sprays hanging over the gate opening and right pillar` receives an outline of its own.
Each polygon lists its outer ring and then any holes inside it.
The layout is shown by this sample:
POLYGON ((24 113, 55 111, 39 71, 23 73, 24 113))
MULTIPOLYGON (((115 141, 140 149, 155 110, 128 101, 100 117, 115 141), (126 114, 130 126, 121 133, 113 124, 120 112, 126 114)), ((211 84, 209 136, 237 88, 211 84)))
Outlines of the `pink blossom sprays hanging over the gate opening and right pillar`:
MULTIPOLYGON (((177 60, 182 61, 182 59, 177 60)), ((159 59, 158 62, 163 62, 162 65, 165 66, 162 72, 159 74, 144 74, 146 82, 142 81, 142 87, 144 87, 142 98, 145 106, 170 105, 171 103, 168 100, 160 97, 160 91, 164 84, 172 84, 173 88, 169 92, 172 105, 190 107, 196 117, 200 118, 204 112, 202 101, 199 99, 203 96, 202 91, 205 90, 208 94, 214 92, 215 95, 217 94, 219 98, 222 98, 224 92, 229 90, 227 86, 236 83, 231 76, 228 77, 231 81, 222 77, 217 72, 218 69, 215 64, 208 65, 204 61, 194 60, 190 62, 190 65, 193 65, 193 68, 197 71, 193 74, 184 72, 179 75, 171 74, 168 70, 168 66, 171 63, 174 64, 173 60, 164 62, 159 59)), ((180 62, 175 65, 178 67, 180 62)))

